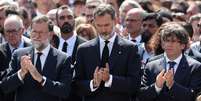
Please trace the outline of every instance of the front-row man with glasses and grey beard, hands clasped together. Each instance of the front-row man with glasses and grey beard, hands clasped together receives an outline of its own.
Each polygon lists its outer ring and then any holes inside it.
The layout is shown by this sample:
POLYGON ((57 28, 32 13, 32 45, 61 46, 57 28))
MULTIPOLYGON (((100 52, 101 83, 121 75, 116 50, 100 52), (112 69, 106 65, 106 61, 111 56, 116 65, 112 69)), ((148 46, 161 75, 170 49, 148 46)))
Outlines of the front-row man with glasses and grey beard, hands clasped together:
POLYGON ((13 53, 8 75, 0 87, 5 93, 15 91, 15 101, 61 101, 68 97, 70 59, 50 46, 52 26, 46 16, 35 17, 31 24, 33 47, 13 53))

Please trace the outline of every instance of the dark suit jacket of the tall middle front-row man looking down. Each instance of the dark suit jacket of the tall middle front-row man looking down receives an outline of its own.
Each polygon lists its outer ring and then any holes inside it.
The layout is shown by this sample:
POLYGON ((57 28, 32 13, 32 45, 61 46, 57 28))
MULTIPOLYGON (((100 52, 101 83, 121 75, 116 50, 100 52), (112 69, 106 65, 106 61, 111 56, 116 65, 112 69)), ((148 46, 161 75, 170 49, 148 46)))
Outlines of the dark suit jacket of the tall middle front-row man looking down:
POLYGON ((119 36, 115 38, 109 57, 110 74, 113 75, 110 88, 101 86, 95 92, 90 90, 90 80, 97 66, 100 66, 99 38, 80 45, 75 64, 75 82, 78 93, 85 101, 129 101, 140 84, 140 57, 137 47, 119 36))

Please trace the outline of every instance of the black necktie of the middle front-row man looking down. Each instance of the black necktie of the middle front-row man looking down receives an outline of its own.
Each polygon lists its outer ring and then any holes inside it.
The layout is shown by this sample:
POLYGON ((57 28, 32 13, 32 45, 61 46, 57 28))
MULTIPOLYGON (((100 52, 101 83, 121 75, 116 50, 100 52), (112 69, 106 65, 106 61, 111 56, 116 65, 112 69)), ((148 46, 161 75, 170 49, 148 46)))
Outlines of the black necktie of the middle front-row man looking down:
POLYGON ((109 43, 108 40, 105 41, 105 46, 102 52, 102 60, 101 60, 101 67, 105 67, 105 64, 109 61, 109 48, 107 44, 109 43))

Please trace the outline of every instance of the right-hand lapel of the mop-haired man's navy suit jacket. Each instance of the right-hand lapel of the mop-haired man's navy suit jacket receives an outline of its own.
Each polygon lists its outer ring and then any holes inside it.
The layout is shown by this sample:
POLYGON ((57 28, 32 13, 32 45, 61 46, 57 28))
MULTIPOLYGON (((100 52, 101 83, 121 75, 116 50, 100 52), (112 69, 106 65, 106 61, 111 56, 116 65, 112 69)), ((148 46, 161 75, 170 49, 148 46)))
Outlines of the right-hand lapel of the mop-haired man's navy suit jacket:
POLYGON ((186 76, 188 76, 188 72, 190 72, 189 64, 186 60, 186 57, 183 55, 174 76, 175 81, 178 83, 184 81, 186 76))

